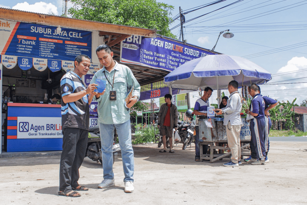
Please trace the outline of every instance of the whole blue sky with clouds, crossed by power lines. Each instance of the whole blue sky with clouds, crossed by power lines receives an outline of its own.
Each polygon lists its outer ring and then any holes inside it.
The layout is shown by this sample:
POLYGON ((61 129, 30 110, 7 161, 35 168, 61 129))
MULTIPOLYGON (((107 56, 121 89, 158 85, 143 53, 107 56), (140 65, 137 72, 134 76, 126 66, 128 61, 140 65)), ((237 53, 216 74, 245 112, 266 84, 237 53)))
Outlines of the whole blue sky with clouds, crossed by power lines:
MULTIPOLYGON (((185 19, 188 21, 236 1, 238 0, 227 0, 216 5, 201 8, 185 14, 185 19)), ((186 12, 188 9, 213 2, 213 0, 163 0, 161 2, 174 6, 172 15, 175 17, 179 14, 179 6, 186 12)), ((56 15, 62 14, 63 5, 64 2, 62 0, 45 0, 44 2, 34 0, 27 0, 26 2, 11 0, 0 3, 0 7, 28 10, 38 13, 50 14, 52 12, 56 15)), ((71 6, 71 3, 68 2, 68 5, 71 6)), ((212 49, 220 31, 230 29, 234 37, 226 39, 221 36, 215 51, 228 55, 246 57, 255 62, 274 74, 270 81, 272 84, 273 82, 284 80, 289 80, 285 82, 307 82, 304 78, 291 80, 307 76, 307 71, 304 70, 307 69, 306 9, 307 1, 304 0, 244 0, 204 15, 194 21, 185 23, 184 38, 187 39, 188 43, 212 49), (205 22, 194 24, 199 20, 205 22), (220 27, 215 27, 218 25, 220 25, 220 27), (204 26, 209 26, 210 28, 205 28, 204 26), (264 53, 266 55, 260 53, 282 47, 284 47, 284 49, 289 49, 286 46, 293 46, 295 44, 297 46, 289 47, 294 49, 286 51, 275 50, 275 52, 278 52, 273 54, 264 53), (260 54, 258 56, 248 56, 255 53, 260 54), (295 72, 299 70, 303 71, 295 72), (276 73, 284 75, 278 75, 276 73)), ((170 25, 170 28, 179 23, 179 20, 175 20, 175 22, 170 25)), ((178 37, 179 28, 180 27, 177 27, 172 30, 173 34, 177 34, 178 37)), ((293 99, 297 97, 296 102, 300 104, 301 101, 307 97, 307 83, 262 85, 261 88, 262 94, 269 95, 269 97, 280 101, 293 101, 293 99)), ((227 93, 226 90, 225 93, 227 93)), ((197 94, 195 95, 195 99, 197 98, 196 96, 197 94)), ((213 95, 212 103, 215 103, 215 99, 216 95, 213 95)))

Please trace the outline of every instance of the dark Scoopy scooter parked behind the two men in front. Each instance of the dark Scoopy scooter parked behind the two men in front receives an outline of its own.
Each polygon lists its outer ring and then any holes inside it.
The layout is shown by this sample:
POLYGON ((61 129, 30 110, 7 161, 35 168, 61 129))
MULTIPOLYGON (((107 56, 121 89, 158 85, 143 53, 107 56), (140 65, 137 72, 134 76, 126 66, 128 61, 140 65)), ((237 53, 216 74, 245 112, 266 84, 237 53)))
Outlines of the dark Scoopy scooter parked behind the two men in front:
MULTIPOLYGON (((120 150, 119 143, 115 144, 116 140, 117 140, 117 132, 115 129, 114 139, 113 139, 113 149, 112 149, 113 164, 115 161, 115 156, 118 155, 118 151, 120 150)), ((102 164, 99 126, 94 126, 89 128, 85 157, 88 157, 91 160, 96 161, 97 163, 100 162, 102 164)))

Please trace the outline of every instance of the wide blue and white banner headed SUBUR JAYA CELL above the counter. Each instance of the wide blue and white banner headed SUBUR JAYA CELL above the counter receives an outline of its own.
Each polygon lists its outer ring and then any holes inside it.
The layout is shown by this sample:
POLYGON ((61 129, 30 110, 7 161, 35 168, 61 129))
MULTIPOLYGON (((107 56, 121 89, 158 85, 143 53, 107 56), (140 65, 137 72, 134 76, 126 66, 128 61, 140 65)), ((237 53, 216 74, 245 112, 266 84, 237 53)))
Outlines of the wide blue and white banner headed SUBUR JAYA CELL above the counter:
POLYGON ((74 60, 79 54, 91 58, 92 32, 14 21, 1 21, 0 52, 58 60, 74 60))

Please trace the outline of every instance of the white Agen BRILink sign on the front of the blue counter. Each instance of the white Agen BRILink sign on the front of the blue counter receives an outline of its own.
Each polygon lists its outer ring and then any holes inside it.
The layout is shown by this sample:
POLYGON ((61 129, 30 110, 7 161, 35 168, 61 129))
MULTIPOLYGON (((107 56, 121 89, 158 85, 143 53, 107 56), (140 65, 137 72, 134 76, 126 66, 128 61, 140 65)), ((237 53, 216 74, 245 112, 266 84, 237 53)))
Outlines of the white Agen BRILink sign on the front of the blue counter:
POLYGON ((62 138, 61 117, 17 117, 17 139, 62 138))

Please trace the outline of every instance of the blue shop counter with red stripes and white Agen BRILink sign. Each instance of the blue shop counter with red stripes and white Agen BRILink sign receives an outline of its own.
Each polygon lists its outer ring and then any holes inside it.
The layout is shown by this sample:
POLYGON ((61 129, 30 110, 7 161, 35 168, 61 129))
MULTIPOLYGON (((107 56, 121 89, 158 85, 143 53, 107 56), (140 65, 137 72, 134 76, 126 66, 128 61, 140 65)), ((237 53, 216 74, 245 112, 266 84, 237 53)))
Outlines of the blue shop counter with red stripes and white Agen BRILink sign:
POLYGON ((62 150, 60 104, 7 104, 7 152, 62 150))

